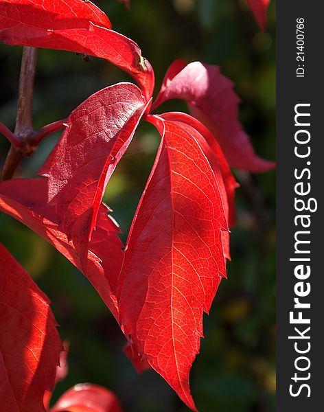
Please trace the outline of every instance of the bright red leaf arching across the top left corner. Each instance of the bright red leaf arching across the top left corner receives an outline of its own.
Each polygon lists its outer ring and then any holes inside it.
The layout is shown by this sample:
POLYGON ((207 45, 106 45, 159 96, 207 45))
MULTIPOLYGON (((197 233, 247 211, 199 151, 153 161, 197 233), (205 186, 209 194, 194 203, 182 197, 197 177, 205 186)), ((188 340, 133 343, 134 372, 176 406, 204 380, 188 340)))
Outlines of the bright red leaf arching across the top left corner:
POLYGON ((0 41, 104 58, 135 78, 149 100, 150 63, 136 43, 110 29, 108 18, 89 1, 0 0, 0 41))

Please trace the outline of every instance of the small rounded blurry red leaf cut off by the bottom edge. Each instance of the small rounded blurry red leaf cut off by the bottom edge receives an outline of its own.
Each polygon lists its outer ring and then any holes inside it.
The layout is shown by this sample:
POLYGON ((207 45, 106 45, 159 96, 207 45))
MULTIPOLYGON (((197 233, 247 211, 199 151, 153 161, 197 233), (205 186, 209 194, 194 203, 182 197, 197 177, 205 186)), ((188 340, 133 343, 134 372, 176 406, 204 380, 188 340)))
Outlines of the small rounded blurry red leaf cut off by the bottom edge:
POLYGON ((122 412, 113 394, 104 387, 83 383, 63 393, 50 412, 122 412))

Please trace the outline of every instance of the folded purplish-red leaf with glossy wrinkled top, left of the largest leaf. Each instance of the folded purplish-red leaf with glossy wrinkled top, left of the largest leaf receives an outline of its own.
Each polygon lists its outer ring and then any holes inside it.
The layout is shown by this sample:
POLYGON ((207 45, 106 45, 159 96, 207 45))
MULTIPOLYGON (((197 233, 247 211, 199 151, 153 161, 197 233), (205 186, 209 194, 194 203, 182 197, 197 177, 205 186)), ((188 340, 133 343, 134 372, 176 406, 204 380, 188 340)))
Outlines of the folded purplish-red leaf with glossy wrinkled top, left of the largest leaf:
MULTIPOLYGON (((59 228, 88 257, 102 196, 146 110, 137 86, 120 83, 93 94, 67 119, 67 128, 40 174, 49 178, 59 228)), ((84 266, 85 269, 85 266, 84 266)))

